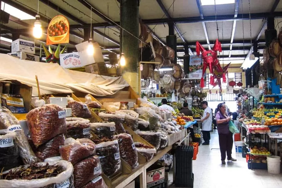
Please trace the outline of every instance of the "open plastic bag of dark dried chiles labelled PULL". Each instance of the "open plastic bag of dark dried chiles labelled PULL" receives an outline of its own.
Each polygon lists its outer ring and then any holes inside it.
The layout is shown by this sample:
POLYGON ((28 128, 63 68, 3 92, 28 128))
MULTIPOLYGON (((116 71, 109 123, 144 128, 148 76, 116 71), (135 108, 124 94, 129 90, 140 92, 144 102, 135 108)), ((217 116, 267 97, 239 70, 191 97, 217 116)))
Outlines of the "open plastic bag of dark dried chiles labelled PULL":
POLYGON ((122 170, 119 154, 118 140, 107 141, 108 138, 94 141, 96 145, 96 155, 99 157, 102 170, 105 175, 112 177, 122 170), (106 142, 102 142, 106 141, 106 142), (100 143, 99 143, 100 142, 100 143), (98 144, 99 143, 99 144, 98 144))

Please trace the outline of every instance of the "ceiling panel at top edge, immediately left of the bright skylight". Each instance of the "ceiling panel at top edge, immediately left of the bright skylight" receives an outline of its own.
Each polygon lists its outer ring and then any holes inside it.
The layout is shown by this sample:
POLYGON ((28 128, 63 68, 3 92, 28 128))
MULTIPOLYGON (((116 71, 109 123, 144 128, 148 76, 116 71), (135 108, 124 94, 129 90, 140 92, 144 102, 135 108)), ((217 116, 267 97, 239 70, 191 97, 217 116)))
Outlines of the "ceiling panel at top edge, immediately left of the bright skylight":
MULTIPOLYGON (((172 5, 173 1, 174 0, 163 0, 162 2, 165 5, 165 8, 168 9, 172 5)), ((174 2, 174 11, 172 5, 168 12, 171 17, 173 15, 173 18, 200 16, 197 3, 194 0, 177 0, 174 2)))

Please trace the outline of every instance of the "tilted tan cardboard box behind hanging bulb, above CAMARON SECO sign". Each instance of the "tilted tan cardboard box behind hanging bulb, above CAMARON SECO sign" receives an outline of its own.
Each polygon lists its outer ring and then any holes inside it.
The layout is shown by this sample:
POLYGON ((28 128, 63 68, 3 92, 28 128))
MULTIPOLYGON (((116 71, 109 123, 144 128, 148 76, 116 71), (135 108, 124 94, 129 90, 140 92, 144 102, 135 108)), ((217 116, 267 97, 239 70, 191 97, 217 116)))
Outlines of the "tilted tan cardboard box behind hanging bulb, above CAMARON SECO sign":
POLYGON ((76 44, 76 50, 80 56, 80 61, 82 66, 91 65, 94 63, 104 62, 102 50, 97 42, 94 42, 94 54, 87 54, 87 47, 89 42, 85 41, 80 44, 76 44))

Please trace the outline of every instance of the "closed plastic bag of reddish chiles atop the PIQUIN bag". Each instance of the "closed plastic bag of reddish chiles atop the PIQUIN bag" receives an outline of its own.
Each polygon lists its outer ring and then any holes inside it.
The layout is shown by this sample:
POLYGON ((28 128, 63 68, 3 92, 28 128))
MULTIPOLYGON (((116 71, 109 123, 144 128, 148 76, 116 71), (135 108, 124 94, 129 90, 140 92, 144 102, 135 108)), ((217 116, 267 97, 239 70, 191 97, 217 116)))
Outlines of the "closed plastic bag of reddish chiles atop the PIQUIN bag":
POLYGON ((67 138, 65 145, 60 148, 60 154, 63 160, 76 164, 96 153, 96 146, 94 142, 87 138, 73 139, 67 138))

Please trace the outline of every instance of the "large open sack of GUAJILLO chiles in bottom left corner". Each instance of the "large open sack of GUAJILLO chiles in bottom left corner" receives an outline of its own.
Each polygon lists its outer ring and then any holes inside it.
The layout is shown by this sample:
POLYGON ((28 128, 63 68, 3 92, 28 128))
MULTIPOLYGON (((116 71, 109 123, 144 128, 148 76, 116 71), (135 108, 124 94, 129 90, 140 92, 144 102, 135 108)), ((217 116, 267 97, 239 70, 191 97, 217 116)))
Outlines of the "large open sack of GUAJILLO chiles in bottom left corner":
POLYGON ((72 172, 65 160, 18 166, 3 172, 0 188, 74 188, 72 172))

